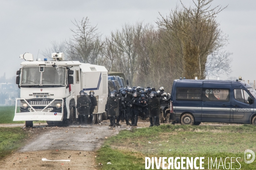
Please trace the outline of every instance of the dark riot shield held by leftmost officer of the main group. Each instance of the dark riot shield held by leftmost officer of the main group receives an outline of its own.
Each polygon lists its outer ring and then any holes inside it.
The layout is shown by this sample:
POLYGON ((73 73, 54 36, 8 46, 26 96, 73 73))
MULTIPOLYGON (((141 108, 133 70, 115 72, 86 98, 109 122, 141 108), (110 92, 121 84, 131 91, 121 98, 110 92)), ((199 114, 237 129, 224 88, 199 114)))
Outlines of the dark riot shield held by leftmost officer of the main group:
POLYGON ((119 97, 108 97, 107 100, 108 116, 119 116, 119 97))

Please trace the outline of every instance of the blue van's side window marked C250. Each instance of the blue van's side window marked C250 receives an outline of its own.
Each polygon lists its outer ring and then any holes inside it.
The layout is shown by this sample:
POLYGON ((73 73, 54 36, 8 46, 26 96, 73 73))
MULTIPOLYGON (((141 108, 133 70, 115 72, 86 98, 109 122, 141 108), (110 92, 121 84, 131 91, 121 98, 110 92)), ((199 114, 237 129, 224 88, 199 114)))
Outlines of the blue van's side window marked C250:
POLYGON ((229 102, 230 90, 203 88, 203 100, 216 102, 229 102))

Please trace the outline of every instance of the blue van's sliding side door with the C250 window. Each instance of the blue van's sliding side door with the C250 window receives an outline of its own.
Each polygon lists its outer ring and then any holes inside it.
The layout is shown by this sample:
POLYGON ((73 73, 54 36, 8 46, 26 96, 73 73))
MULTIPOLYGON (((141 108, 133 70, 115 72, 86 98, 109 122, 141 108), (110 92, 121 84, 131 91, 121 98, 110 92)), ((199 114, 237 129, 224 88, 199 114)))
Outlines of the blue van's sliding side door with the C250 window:
POLYGON ((230 122, 231 82, 204 82, 202 122, 230 122))

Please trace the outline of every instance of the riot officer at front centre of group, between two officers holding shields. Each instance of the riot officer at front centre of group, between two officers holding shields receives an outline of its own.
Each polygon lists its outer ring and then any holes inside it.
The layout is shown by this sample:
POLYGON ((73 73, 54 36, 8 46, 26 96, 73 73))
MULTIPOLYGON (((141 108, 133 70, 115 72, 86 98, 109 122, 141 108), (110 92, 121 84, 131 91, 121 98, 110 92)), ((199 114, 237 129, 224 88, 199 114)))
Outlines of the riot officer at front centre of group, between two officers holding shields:
POLYGON ((140 108, 140 99, 138 98, 138 92, 134 93, 134 97, 131 100, 131 124, 137 126, 138 114, 140 108))

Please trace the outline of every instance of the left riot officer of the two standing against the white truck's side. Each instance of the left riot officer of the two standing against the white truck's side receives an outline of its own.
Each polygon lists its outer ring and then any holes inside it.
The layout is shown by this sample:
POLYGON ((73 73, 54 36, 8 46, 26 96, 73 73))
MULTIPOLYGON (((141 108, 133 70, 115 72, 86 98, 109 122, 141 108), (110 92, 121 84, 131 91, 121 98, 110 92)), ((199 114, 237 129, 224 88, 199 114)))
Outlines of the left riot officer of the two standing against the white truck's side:
POLYGON ((84 91, 80 91, 80 96, 77 96, 76 108, 78 110, 78 117, 80 124, 87 125, 88 115, 90 114, 90 98, 84 91))

